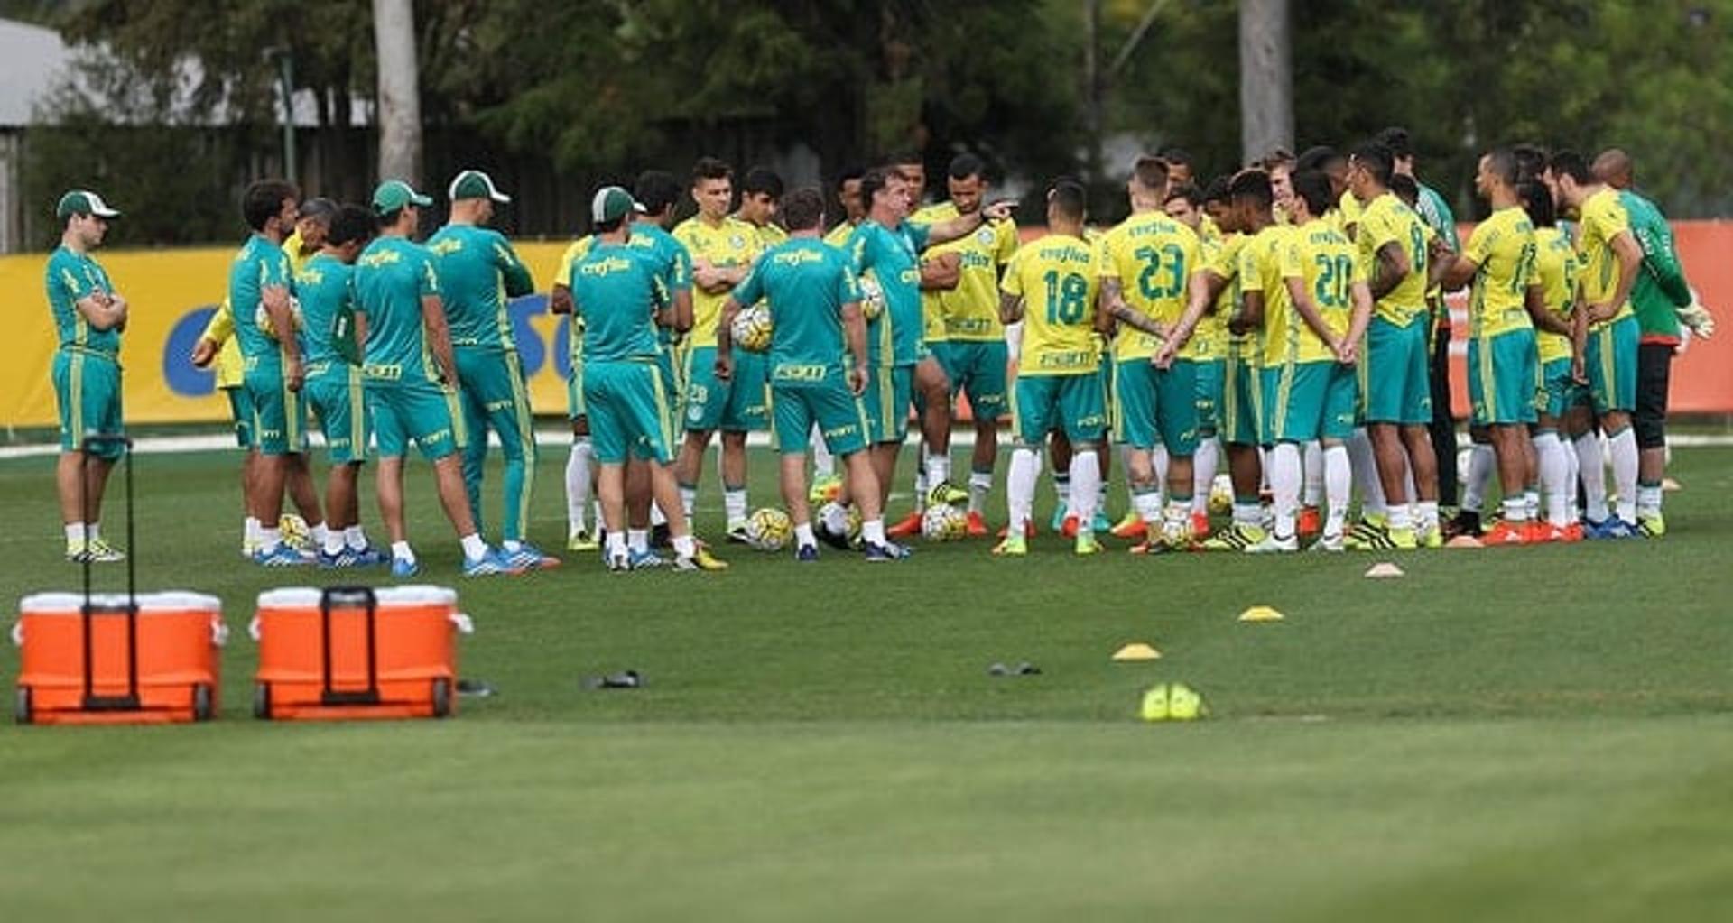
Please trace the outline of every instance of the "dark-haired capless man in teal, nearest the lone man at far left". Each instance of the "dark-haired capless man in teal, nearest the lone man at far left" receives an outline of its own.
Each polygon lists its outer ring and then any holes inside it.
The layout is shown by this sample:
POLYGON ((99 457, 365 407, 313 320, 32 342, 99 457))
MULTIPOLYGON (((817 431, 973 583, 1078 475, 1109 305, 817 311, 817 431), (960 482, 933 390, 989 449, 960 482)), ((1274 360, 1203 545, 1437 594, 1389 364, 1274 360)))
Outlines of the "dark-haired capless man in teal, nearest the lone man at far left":
MULTIPOLYGON (((307 464, 307 421, 300 393, 307 369, 295 336, 295 307, 289 298, 293 275, 282 249, 282 237, 296 222, 296 199, 300 192, 282 180, 258 180, 246 189, 241 211, 253 234, 229 268, 229 305, 234 308, 234 331, 246 369, 253 436, 258 440, 250 507, 262 525, 253 561, 263 566, 310 563, 282 544, 277 526, 289 469, 307 464)), ((312 509, 317 507, 314 499, 312 509)), ((314 521, 319 520, 315 514, 314 521)), ((321 544, 324 537, 321 528, 321 544)))

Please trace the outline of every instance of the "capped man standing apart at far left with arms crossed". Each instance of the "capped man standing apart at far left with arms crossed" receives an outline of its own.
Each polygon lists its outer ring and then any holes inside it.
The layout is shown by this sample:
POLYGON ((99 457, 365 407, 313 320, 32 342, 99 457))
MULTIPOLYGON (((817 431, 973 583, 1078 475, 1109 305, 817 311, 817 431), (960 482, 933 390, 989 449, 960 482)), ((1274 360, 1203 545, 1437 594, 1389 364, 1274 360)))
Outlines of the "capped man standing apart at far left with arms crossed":
POLYGON ((127 552, 102 539, 102 492, 114 461, 125 454, 120 386, 120 334, 127 300, 92 251, 102 246, 109 220, 120 211, 102 196, 73 189, 54 210, 61 246, 49 255, 49 312, 61 346, 54 353, 54 398, 61 416, 61 461, 54 485, 66 526, 66 559, 125 561, 127 552), (90 436, 116 436, 97 438, 90 436))

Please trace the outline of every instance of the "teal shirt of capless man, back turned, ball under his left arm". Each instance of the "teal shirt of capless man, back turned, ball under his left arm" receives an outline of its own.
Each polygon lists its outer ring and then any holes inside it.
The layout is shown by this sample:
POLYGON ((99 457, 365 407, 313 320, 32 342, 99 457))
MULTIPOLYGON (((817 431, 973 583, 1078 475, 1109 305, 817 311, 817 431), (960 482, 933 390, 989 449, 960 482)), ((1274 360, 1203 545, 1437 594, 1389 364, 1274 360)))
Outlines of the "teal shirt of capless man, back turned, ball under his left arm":
POLYGON ((740 305, 769 305, 769 383, 780 386, 842 379, 842 305, 860 296, 847 255, 816 237, 769 248, 733 291, 740 305))

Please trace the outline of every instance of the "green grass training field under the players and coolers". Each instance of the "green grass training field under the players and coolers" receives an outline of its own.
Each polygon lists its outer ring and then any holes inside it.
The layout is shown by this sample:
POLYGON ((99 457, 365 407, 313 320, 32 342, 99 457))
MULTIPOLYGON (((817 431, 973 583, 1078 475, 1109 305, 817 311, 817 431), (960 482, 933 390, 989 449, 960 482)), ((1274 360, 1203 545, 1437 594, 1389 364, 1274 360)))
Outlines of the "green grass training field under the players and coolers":
MULTIPOLYGON (((549 452, 537 481, 548 545, 561 464, 549 452)), ((894 566, 723 549, 721 575, 586 556, 459 585, 463 674, 497 696, 447 722, 331 726, 250 717, 255 594, 329 575, 239 559, 234 466, 137 459, 142 585, 218 594, 234 629, 222 720, 0 727, 5 920, 1733 906, 1733 450, 1676 454, 1662 542, 1411 552, 1400 580, 1362 578, 1364 554, 1135 559, 1116 542, 1078 561, 1047 537, 1017 563, 981 542, 894 566), (1288 618, 1236 622, 1251 604, 1288 618), (1128 641, 1163 658, 1109 662, 1128 641), (986 672, 1022 660, 1043 674, 986 672), (646 687, 582 687, 622 668, 646 687), (1213 719, 1142 724, 1156 681, 1192 684, 1213 719)), ((9 606, 78 585, 50 469, 0 462, 9 606)), ((768 502, 769 464, 754 471, 768 502)), ((719 495, 704 500, 719 530, 719 495)), ((419 464, 411 504, 425 580, 458 584, 419 464)), ((0 677, 16 667, 7 646, 0 677)))

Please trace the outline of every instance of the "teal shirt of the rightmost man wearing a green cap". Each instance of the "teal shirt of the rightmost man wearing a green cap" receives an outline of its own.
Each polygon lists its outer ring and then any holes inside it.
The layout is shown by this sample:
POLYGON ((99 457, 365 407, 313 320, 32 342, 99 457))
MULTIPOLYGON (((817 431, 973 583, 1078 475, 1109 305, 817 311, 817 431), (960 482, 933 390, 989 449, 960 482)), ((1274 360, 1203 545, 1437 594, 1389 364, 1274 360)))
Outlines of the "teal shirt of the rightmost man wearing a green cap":
POLYGON ((645 249, 596 239, 572 260, 572 305, 584 320, 584 362, 655 362, 655 315, 669 303, 645 249))

